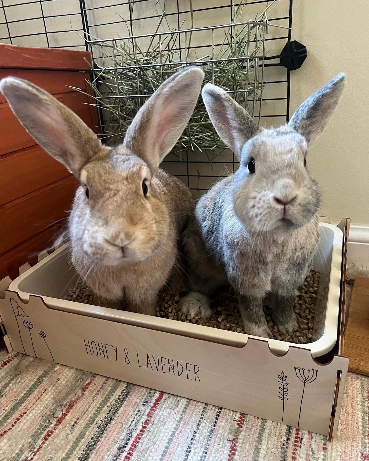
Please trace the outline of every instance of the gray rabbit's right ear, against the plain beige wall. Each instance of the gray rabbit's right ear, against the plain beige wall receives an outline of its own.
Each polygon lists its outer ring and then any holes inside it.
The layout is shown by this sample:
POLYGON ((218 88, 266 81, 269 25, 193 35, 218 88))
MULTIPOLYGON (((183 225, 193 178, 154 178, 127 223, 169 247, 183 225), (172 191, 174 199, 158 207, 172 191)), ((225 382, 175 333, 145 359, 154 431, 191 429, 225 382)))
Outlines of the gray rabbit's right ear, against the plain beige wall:
POLYGON ((344 88, 345 74, 341 72, 299 106, 288 126, 304 136, 310 145, 327 126, 344 88))

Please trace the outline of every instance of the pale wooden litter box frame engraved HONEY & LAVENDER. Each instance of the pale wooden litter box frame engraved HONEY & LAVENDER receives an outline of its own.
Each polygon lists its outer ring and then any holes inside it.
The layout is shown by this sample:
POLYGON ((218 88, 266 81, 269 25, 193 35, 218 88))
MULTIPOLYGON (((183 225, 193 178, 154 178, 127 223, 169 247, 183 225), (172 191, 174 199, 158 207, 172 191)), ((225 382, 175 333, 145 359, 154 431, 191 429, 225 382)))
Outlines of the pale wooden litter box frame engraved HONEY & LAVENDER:
MULTIPOLYGON (((267 339, 248 338, 243 347, 236 347, 221 337, 223 343, 187 336, 183 325, 188 324, 178 322, 176 332, 161 331, 148 327, 147 316, 141 314, 123 318, 120 311, 65 301, 73 306, 72 313, 48 307, 42 296, 29 295, 26 300, 12 290, 0 298, 6 347, 331 440, 337 434, 348 368, 343 332, 349 220, 337 227, 343 232, 338 335, 334 349, 319 361, 299 346, 275 355, 267 339)), ((29 267, 23 266, 20 273, 29 267)), ((10 282, 8 278, 7 287, 10 282)))

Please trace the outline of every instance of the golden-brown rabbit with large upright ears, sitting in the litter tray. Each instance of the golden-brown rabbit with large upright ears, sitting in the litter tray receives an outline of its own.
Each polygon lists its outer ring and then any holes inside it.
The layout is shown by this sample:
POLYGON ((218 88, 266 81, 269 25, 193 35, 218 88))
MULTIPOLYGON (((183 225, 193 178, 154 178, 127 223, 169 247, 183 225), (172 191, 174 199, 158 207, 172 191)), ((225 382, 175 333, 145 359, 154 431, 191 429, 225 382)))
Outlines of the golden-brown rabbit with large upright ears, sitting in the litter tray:
POLYGON ((189 66, 146 100, 123 144, 108 147, 70 109, 32 83, 0 82, 13 112, 80 181, 69 218, 71 260, 98 304, 154 314, 193 213, 187 186, 158 168, 182 134, 204 74, 189 66), (147 192, 147 195, 145 195, 147 192))

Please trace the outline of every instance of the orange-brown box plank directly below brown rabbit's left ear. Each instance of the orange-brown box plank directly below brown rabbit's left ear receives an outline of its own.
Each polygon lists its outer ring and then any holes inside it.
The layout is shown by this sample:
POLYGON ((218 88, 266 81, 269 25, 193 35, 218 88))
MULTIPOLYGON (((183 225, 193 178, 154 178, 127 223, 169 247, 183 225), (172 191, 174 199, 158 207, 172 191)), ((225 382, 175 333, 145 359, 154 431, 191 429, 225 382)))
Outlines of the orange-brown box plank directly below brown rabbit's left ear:
POLYGON ((39 145, 0 157, 0 206, 69 176, 39 145))

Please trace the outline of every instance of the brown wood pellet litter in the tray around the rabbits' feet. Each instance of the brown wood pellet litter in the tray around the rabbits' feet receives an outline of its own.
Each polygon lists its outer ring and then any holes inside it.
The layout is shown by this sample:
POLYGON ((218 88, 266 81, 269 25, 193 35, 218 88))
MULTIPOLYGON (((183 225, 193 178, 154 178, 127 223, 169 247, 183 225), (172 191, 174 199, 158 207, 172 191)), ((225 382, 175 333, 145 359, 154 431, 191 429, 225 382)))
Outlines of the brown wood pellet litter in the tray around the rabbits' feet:
MULTIPOLYGON (((319 272, 310 271, 310 274, 299 289, 299 294, 294 300, 294 311, 296 313, 299 328, 297 331, 293 332, 291 336, 281 334, 278 331, 277 326, 274 325, 271 318, 269 299, 266 298, 264 300, 265 317, 268 322, 269 330, 275 339, 298 344, 311 342, 319 278, 319 272)), ((220 328, 222 330, 236 331, 237 333, 245 333, 238 310, 238 300, 231 287, 223 287, 217 290, 212 297, 211 307, 214 313, 210 319, 202 319, 200 313, 191 319, 190 315, 186 316, 184 313, 178 312, 178 301, 185 295, 186 292, 179 289, 163 289, 158 296, 158 305, 156 307, 157 317, 205 325, 211 328, 220 328)), ((94 304, 92 291, 82 281, 71 288, 64 299, 82 302, 84 304, 94 304)))

